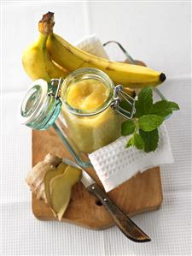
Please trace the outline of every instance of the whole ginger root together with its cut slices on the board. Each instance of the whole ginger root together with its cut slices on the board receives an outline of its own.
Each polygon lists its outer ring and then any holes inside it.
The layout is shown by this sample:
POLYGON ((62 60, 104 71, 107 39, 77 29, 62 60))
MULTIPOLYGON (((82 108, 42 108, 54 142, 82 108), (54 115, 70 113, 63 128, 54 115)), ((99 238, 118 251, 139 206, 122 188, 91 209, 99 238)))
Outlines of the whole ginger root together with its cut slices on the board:
POLYGON ((26 176, 26 182, 37 199, 44 199, 55 217, 61 220, 71 199, 73 185, 79 181, 81 170, 67 166, 51 154, 36 164, 26 176))

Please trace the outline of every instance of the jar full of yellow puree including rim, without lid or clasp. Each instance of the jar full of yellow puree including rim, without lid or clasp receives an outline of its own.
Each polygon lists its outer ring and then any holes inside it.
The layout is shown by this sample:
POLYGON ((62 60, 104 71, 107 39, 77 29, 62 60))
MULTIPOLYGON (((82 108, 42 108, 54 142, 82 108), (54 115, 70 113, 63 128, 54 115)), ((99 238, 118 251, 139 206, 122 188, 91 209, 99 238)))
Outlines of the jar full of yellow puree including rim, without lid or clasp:
POLYGON ((67 76, 61 86, 61 115, 81 152, 94 152, 120 136, 122 116, 110 104, 114 86, 108 75, 82 68, 67 76))

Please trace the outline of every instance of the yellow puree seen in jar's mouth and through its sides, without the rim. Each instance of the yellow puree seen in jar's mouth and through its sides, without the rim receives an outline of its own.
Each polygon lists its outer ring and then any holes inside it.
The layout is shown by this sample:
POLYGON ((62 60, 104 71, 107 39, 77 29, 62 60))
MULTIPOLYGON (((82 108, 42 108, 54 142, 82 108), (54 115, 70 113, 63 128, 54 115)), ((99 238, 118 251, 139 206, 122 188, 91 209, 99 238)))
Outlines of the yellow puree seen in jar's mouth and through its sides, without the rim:
MULTIPOLYGON (((108 99, 108 87, 102 81, 74 82, 67 92, 67 103, 78 110, 96 110, 108 99)), ((63 108, 67 128, 82 152, 94 152, 120 135, 121 117, 110 107, 96 116, 75 116, 63 108)))

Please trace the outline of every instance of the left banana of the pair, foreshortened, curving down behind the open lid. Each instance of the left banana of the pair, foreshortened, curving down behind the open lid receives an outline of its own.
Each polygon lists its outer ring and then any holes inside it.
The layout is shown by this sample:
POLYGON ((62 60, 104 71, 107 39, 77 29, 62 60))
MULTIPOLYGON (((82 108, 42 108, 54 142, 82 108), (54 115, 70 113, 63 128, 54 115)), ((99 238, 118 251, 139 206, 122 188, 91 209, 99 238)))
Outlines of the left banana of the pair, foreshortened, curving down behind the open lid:
MULTIPOLYGON (((39 30, 44 27, 44 22, 39 22, 39 30)), ((47 33, 39 33, 38 41, 29 45, 22 55, 22 64, 26 74, 32 79, 51 80, 52 78, 65 78, 68 74, 67 69, 54 63, 46 49, 48 39, 47 33)))

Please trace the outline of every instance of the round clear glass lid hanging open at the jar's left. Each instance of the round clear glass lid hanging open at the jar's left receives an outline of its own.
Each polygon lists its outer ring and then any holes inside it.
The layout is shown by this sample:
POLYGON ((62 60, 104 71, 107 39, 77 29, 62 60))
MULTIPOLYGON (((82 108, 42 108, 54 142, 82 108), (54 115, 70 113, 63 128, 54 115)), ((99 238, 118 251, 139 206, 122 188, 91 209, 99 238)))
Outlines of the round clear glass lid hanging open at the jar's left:
POLYGON ((59 116, 61 99, 52 95, 46 80, 35 80, 20 104, 20 122, 37 130, 49 128, 59 116))

